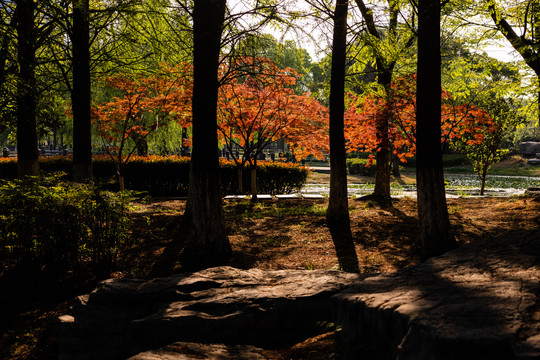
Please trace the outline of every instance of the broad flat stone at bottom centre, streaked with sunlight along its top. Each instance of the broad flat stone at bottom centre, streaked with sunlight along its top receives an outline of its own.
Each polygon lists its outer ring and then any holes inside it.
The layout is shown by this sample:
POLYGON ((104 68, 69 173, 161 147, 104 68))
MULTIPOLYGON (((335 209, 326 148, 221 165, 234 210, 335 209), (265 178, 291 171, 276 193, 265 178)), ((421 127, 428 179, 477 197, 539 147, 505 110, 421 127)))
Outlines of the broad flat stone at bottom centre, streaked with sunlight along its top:
POLYGON ((332 270, 218 267, 106 280, 61 317, 60 359, 125 359, 176 342, 290 345, 317 333, 331 317, 330 297, 359 279, 332 270))

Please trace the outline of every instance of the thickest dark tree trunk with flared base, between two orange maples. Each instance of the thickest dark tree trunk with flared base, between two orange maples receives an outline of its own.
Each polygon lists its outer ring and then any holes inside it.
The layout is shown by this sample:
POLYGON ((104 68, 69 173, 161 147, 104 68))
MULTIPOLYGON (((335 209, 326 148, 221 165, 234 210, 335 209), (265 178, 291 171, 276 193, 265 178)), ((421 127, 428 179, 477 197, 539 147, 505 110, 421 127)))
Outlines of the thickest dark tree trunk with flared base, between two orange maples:
POLYGON ((231 255, 222 207, 217 141, 218 62, 225 0, 197 0, 193 10, 193 151, 189 181, 188 266, 224 264, 231 255))

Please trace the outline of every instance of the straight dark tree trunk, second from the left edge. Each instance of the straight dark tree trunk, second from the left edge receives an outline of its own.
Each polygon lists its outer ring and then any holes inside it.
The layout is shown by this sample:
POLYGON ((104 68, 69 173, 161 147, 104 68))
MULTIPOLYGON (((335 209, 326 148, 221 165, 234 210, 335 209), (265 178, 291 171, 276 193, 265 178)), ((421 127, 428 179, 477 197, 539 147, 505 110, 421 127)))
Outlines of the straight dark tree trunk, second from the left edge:
POLYGON ((92 179, 89 0, 73 0, 73 178, 92 179))

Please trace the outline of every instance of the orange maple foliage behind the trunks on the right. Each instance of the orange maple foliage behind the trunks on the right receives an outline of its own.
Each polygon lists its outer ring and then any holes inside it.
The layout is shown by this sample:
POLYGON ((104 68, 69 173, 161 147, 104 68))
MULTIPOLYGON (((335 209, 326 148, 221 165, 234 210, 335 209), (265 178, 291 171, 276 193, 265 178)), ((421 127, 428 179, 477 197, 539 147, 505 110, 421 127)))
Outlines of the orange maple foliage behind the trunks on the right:
MULTIPOLYGON (((456 101, 452 94, 441 91, 441 146, 453 139, 467 137, 469 144, 481 143, 485 132, 497 125, 486 111, 470 103, 456 101)), ((401 162, 416 153, 416 74, 392 82, 390 96, 377 94, 348 95, 345 113, 345 137, 350 151, 378 151, 376 124, 378 116, 391 119, 389 138, 393 155, 401 162)), ((369 155, 367 166, 374 156, 369 155)))

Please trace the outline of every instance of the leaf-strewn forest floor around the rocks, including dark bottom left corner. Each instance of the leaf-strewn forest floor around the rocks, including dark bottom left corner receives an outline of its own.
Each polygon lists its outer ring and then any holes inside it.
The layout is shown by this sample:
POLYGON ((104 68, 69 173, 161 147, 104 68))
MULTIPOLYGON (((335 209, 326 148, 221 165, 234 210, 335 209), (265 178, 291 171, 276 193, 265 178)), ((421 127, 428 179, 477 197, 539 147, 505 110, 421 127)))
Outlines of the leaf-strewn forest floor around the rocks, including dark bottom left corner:
MULTIPOLYGON (((419 259, 412 251, 417 234, 416 200, 395 199, 391 208, 350 200, 352 230, 363 273, 396 271, 419 259)), ((233 257, 229 265, 260 269, 335 269, 337 259, 325 222, 327 200, 269 200, 257 204, 226 201, 233 257)), ((151 278, 181 271, 177 254, 185 235, 181 200, 134 204, 129 241, 122 244, 112 277, 151 278)), ((510 230, 537 229, 540 201, 534 198, 449 199, 453 231, 460 244, 510 230)), ((59 315, 75 296, 96 285, 89 273, 77 276, 0 276, 0 358, 56 359, 59 315)), ((332 335, 307 339, 270 359, 327 359, 332 335)))

